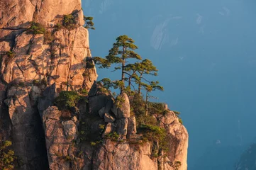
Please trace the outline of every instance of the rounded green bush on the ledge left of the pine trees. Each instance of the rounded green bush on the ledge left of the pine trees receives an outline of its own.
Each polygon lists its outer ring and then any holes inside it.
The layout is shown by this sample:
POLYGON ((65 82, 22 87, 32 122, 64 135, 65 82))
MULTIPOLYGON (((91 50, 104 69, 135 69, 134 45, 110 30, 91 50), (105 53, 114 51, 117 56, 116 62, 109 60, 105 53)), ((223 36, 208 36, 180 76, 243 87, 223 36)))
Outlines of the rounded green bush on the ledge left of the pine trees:
POLYGON ((81 96, 76 91, 61 91, 60 96, 55 98, 54 104, 60 110, 66 110, 77 105, 81 96))

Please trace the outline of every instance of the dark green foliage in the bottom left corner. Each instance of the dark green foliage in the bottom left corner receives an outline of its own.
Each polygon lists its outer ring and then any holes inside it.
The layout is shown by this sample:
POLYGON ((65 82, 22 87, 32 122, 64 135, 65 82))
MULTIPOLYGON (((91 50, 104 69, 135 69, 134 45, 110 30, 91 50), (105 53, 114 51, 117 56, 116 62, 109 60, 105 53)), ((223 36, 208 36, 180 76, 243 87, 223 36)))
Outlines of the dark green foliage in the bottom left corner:
POLYGON ((11 170, 14 168, 13 161, 15 159, 14 152, 9 149, 11 146, 11 141, 6 140, 0 142, 0 169, 11 170))

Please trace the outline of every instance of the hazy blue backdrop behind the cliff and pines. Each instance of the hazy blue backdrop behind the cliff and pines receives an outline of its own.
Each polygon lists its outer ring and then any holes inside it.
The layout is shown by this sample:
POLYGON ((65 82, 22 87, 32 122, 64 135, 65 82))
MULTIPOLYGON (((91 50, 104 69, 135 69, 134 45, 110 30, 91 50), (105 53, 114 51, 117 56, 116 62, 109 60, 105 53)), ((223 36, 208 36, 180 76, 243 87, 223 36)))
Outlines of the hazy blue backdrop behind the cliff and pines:
MULTIPOLYGON (((159 69, 158 101, 180 111, 189 170, 231 170, 256 133, 255 0, 82 0, 93 56, 119 35, 159 69)), ((99 79, 115 73, 98 69, 99 79)))

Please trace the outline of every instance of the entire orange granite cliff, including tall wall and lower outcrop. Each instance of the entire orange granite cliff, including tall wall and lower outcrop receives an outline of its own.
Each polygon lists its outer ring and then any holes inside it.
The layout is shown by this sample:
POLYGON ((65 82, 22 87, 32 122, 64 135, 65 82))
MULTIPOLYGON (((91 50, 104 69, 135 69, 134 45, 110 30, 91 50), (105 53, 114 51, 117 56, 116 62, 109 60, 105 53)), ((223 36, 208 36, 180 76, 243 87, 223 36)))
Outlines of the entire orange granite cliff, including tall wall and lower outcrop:
POLYGON ((96 83, 83 25, 80 0, 0 2, 0 140, 12 141, 16 169, 186 170, 177 115, 152 114, 166 151, 145 140, 130 98, 120 108, 96 83))

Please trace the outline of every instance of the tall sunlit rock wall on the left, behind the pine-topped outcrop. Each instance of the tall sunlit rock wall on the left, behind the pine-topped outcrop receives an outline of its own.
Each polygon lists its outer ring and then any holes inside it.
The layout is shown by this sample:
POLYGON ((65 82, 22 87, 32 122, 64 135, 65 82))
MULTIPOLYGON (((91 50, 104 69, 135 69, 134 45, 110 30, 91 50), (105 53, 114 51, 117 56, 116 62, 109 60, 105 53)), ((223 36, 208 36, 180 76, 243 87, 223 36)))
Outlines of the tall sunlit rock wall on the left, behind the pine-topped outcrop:
POLYGON ((51 105, 38 106, 41 97, 48 98, 45 88, 90 89, 96 80, 96 70, 87 69, 91 52, 83 17, 81 0, 0 1, 0 139, 13 141, 19 169, 48 169, 38 111, 51 105), (69 14, 73 28, 57 29, 69 14), (45 34, 29 33, 31 21, 45 34))

